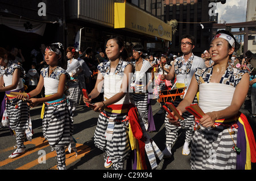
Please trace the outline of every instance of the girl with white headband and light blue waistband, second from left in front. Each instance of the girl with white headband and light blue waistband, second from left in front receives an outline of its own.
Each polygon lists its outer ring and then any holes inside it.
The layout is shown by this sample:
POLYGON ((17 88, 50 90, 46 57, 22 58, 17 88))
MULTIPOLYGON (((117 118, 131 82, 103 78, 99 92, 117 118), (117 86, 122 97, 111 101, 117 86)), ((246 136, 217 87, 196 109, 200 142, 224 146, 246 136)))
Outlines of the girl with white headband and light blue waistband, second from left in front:
MULTIPOLYGON (((73 115, 65 96, 65 83, 69 74, 59 66, 63 59, 63 46, 61 43, 51 44, 46 48, 45 60, 47 68, 42 68, 36 89, 28 93, 31 97, 30 107, 44 103, 43 107, 43 135, 48 140, 52 150, 56 151, 57 169, 65 170, 65 146, 77 152, 72 137, 73 115), (40 94, 45 87, 44 98, 32 98, 40 94), (51 131, 54 130, 54 131, 51 131)), ((19 95, 22 99, 22 95, 19 95)))

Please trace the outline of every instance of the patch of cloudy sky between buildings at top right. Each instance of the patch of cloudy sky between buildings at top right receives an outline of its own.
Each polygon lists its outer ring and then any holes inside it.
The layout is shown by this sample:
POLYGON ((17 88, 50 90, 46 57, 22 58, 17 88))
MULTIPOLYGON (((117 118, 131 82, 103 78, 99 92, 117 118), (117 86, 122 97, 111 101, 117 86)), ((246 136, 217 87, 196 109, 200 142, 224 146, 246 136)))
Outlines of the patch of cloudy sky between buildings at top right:
POLYGON ((226 0, 222 5, 217 3, 218 23, 240 23, 246 20, 247 0, 226 0))

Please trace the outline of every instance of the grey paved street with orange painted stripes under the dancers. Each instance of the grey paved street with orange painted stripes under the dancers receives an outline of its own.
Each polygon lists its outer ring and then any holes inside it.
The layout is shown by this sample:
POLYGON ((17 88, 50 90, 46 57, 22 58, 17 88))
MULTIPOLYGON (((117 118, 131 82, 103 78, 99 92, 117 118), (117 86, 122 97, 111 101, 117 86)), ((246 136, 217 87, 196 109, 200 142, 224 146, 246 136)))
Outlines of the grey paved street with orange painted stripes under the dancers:
MULTIPOLYGON (((249 113, 243 106, 241 111, 246 115, 249 113)), ((150 136, 159 146, 160 150, 164 149, 165 128, 164 114, 157 115, 159 104, 152 102, 152 111, 155 120, 156 131, 150 133, 150 136)), ((3 170, 52 170, 56 169, 55 154, 51 151, 48 142, 44 140, 42 135, 42 120, 40 119, 41 107, 31 109, 32 127, 34 136, 32 142, 26 141, 26 153, 15 159, 8 159, 8 156, 14 151, 15 138, 10 135, 7 128, 0 129, 0 167, 3 170), (43 157, 46 155, 46 157, 43 157)), ((75 157, 75 153, 67 153, 67 169, 68 170, 111 170, 104 167, 104 158, 102 151, 95 148, 93 144, 94 129, 97 124, 98 113, 84 106, 78 106, 74 116, 74 138, 77 141, 79 155, 75 157)), ((254 134, 256 128, 256 119, 249 120, 254 134)), ((164 159, 159 163, 158 169, 161 170, 190 170, 189 156, 181 154, 184 143, 184 131, 181 131, 172 153, 174 157, 164 159)), ((255 169, 255 167, 253 167, 255 169)))

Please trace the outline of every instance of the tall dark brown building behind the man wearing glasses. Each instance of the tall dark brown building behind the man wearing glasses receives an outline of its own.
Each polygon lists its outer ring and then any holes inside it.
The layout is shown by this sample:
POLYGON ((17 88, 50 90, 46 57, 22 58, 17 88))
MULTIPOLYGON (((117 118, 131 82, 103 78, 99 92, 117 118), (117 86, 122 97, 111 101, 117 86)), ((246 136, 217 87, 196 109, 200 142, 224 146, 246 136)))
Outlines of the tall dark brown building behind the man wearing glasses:
MULTIPOLYGON (((184 34, 196 38, 194 54, 200 55, 209 49, 209 34, 217 19, 209 16, 209 2, 204 0, 165 0, 164 21, 176 19, 177 31, 172 37, 171 52, 180 53, 180 38, 184 34)), ((216 16, 214 16, 216 18, 216 16)))

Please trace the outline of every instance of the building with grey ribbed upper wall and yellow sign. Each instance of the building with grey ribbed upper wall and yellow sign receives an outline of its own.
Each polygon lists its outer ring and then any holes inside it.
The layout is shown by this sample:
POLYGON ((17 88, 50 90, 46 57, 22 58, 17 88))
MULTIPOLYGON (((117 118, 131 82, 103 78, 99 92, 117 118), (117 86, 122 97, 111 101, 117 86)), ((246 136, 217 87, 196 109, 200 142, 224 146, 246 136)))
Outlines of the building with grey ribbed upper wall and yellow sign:
MULTIPOLYGON (((171 41, 171 26, 162 19, 163 11, 151 9, 151 1, 115 1, 115 0, 67 0, 66 21, 68 27, 68 45, 72 45, 77 31, 81 28, 81 50, 92 47, 104 49, 105 39, 110 35, 122 36, 126 43, 126 49, 131 50, 135 44, 142 44, 150 51, 164 52, 171 41), (137 16, 134 16, 136 15, 137 16), (139 15, 138 15, 139 14, 139 15), (133 17, 133 18, 131 18, 133 17), (122 24, 123 23, 123 24, 122 24), (147 24, 145 24, 147 23, 147 24), (152 27, 154 24, 155 27, 152 27), (162 35, 160 28, 169 37, 162 35), (158 44, 153 48, 147 48, 148 44, 158 44)), ((163 1, 152 1, 154 3, 163 1)), ((159 5, 163 10, 162 4, 159 5)))

